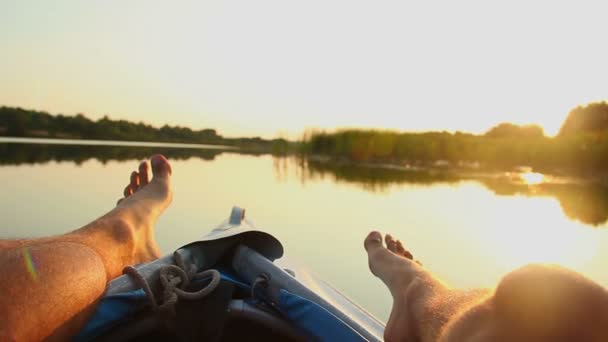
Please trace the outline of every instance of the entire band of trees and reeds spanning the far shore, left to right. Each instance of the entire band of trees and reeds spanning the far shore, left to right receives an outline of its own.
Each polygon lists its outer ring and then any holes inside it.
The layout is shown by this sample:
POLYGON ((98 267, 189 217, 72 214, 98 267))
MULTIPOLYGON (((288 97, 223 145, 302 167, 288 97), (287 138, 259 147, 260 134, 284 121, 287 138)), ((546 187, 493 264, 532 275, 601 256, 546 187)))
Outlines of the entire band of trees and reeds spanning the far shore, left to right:
POLYGON ((462 132, 408 133, 343 129, 309 131, 299 142, 260 137, 227 138, 214 129, 192 130, 139 122, 91 120, 82 114, 50 115, 0 107, 0 136, 156 141, 235 146, 260 153, 325 156, 354 163, 413 167, 512 169, 598 176, 608 174, 608 103, 574 108, 559 134, 539 126, 502 123, 482 135, 462 132))

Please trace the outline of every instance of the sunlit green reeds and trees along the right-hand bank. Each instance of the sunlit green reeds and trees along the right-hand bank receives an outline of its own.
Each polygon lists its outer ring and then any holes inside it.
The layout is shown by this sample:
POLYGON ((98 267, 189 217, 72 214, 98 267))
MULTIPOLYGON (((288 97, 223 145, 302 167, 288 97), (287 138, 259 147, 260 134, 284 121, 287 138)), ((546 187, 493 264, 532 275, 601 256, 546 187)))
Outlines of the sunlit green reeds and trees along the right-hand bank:
POLYGON ((307 132, 308 154, 334 159, 412 165, 530 166, 538 171, 595 175, 608 171, 608 104, 573 109, 556 137, 538 126, 503 123, 483 135, 347 129, 307 132))

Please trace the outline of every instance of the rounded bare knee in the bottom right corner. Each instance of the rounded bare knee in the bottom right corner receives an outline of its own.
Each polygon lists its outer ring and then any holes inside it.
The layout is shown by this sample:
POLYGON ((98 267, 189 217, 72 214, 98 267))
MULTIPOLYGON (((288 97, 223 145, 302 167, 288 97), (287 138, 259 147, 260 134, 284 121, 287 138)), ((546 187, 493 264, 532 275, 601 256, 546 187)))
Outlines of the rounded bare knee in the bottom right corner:
POLYGON ((534 264, 507 274, 493 305, 501 330, 530 338, 595 336, 608 323, 606 290, 559 266, 534 264))

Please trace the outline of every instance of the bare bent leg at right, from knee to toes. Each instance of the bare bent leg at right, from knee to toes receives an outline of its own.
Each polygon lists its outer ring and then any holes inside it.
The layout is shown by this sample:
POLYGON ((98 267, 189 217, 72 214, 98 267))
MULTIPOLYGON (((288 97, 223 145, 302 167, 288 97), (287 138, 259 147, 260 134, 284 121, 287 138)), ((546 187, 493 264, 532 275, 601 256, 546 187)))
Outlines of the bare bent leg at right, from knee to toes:
POLYGON ((372 232, 369 266, 393 295, 387 341, 608 341, 608 292, 580 274, 529 265, 495 291, 451 290, 400 241, 372 232))

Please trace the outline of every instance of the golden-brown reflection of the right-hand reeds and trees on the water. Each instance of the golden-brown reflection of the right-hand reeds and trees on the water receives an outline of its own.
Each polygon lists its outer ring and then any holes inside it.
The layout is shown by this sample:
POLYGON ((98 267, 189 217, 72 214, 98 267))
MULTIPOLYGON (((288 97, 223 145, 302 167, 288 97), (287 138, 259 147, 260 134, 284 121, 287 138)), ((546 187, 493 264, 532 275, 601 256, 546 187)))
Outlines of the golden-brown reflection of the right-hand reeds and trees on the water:
MULTIPOLYGON (((553 197, 559 201, 566 216, 587 225, 598 227, 608 221, 608 187, 604 184, 580 180, 564 182, 530 172, 520 174, 408 169, 296 158, 291 161, 284 159, 283 163, 296 165, 300 169, 298 177, 303 183, 331 177, 335 182, 354 184, 372 192, 385 192, 392 186, 402 184, 455 185, 464 181, 476 181, 498 196, 553 197)), ((285 167, 275 168, 275 172, 285 172, 285 167)))

